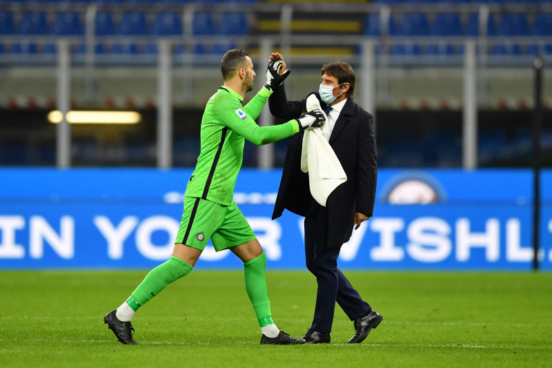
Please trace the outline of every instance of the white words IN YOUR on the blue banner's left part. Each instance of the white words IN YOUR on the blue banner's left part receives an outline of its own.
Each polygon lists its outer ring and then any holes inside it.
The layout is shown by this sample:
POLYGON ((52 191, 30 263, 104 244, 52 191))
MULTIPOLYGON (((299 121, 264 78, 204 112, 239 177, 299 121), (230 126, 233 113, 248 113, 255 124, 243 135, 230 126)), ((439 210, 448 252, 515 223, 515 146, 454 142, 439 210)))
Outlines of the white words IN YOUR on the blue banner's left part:
MULTIPOLYGON (((150 260, 166 260, 172 254, 174 240, 180 223, 172 217, 157 215, 146 217, 139 221, 136 216, 126 216, 118 224, 113 224, 107 216, 93 217, 97 231, 106 241, 107 254, 112 260, 124 257, 124 244, 134 231, 136 248, 145 258, 150 260), (168 234, 166 244, 153 244, 152 235, 156 231, 168 234)), ((282 236, 282 227, 268 217, 248 217, 248 222, 257 239, 263 244, 266 257, 269 260, 282 258, 282 248, 277 240, 282 236)), ((0 258, 25 258, 26 250, 23 244, 16 241, 17 231, 26 228, 23 216, 0 216, 0 258)), ((75 239, 82 239, 86 234, 75 236, 75 220, 72 216, 62 216, 59 220, 59 232, 48 224, 41 216, 31 216, 28 223, 30 258, 43 257, 44 248, 49 244, 59 258, 72 259, 75 256, 75 239)), ((127 243, 128 244, 128 243, 127 243)), ((212 245, 206 246, 201 254, 202 260, 216 261, 226 257, 228 251, 215 252, 212 245)))

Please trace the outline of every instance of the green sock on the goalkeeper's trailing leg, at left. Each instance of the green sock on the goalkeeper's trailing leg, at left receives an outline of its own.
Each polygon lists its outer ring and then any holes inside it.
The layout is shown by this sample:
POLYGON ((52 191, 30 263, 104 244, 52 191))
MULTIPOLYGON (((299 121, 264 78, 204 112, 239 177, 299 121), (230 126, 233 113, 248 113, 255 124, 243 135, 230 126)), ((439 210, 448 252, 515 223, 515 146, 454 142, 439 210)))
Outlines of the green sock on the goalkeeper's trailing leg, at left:
POLYGON ((192 269, 190 264, 173 256, 167 262, 152 269, 126 302, 133 311, 136 311, 141 305, 165 289, 168 284, 188 275, 192 269))

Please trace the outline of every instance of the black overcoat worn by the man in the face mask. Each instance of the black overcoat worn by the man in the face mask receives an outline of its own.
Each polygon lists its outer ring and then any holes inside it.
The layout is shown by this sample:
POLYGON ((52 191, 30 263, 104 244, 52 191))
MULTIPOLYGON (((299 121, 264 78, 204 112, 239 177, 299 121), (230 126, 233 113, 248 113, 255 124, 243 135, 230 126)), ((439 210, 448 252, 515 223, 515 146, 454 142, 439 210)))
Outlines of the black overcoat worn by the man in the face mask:
MULTIPOLYGON (((319 94, 314 94, 320 101, 319 94)), ((324 102, 320 101, 320 105, 326 108, 324 102)), ((302 101, 288 101, 282 84, 275 88, 268 99, 268 106, 275 117, 295 119, 306 111, 306 98, 302 101)), ((308 173, 301 171, 303 135, 304 132, 299 132, 290 137, 273 220, 280 217, 284 209, 306 216, 317 208, 308 186, 308 173)), ((355 212, 364 213, 368 217, 373 215, 377 150, 372 115, 360 108, 353 99, 347 99, 335 122, 329 143, 347 175, 347 181, 335 188, 326 201, 329 217, 327 246, 333 248, 342 246, 351 238, 355 212)))

